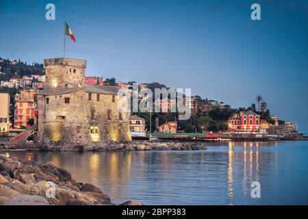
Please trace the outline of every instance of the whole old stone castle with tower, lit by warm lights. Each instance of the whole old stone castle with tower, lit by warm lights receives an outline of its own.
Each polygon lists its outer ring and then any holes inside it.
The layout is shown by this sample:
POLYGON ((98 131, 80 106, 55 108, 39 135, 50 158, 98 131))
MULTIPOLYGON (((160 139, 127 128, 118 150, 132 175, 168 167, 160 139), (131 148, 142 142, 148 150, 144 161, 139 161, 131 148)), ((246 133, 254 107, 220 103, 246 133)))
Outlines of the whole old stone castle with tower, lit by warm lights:
POLYGON ((86 60, 60 57, 44 60, 45 90, 37 95, 38 141, 69 144, 126 142, 129 113, 117 105, 126 97, 116 86, 85 84, 86 60))

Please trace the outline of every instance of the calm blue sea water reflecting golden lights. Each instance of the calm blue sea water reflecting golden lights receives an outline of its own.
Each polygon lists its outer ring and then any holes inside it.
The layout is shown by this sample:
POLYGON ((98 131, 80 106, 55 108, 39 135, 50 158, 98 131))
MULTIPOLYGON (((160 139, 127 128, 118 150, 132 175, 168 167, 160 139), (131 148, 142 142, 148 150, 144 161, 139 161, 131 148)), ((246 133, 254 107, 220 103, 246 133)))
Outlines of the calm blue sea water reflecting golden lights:
POLYGON ((303 144, 226 142, 207 145, 206 151, 8 153, 40 163, 54 162, 77 181, 98 185, 114 203, 308 204, 307 159, 303 158, 308 153, 303 144), (261 183, 259 199, 251 198, 252 181, 261 183))

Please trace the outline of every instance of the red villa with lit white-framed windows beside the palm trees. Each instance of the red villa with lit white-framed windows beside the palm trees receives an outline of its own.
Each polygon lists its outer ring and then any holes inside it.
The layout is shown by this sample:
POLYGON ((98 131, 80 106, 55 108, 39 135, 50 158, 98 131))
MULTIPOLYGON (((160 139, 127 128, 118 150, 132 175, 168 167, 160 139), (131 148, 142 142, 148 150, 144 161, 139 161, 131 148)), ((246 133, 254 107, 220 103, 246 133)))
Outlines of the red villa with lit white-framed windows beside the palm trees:
POLYGON ((229 131, 259 132, 260 119, 260 116, 252 110, 233 114, 228 122, 229 131))

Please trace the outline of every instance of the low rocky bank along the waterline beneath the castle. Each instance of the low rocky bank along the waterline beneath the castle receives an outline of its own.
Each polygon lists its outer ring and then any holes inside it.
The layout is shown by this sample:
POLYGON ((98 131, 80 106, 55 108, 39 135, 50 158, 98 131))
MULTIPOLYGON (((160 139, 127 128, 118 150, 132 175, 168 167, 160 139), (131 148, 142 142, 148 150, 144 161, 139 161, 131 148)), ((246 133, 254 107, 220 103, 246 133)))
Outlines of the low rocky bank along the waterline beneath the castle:
POLYGON ((126 143, 105 143, 105 144, 89 144, 89 145, 73 145, 65 144, 1 144, 0 150, 43 150, 43 151, 191 151, 206 149, 203 144, 194 142, 126 142, 126 143))

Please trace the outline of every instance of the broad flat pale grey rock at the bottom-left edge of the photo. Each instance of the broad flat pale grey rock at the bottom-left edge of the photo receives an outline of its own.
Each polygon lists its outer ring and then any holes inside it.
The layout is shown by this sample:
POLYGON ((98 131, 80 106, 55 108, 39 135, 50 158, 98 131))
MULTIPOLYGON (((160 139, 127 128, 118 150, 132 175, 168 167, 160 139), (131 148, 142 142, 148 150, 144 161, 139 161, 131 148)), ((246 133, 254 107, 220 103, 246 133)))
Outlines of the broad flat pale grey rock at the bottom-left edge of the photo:
POLYGON ((42 196, 21 194, 11 198, 10 201, 5 202, 4 205, 49 205, 49 203, 42 196))

